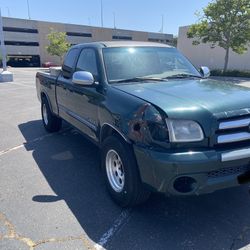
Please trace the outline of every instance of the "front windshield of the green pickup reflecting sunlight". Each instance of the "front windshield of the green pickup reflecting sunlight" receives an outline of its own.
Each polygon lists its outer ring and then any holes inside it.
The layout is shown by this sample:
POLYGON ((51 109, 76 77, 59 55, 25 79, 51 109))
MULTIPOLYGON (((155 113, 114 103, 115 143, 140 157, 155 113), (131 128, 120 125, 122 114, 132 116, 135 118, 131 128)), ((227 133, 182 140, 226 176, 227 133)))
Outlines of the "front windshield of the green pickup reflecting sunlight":
POLYGON ((174 76, 201 77, 197 69, 175 48, 115 47, 103 49, 109 82, 126 79, 167 79, 174 76))

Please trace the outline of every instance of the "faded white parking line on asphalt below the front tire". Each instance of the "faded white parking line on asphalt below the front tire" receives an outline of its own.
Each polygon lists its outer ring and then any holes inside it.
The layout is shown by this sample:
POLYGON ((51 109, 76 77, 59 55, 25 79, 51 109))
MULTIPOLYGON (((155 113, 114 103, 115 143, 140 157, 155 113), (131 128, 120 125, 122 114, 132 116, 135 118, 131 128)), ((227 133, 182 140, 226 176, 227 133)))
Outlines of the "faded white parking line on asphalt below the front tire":
POLYGON ((114 221, 109 230, 102 235, 99 241, 95 244, 94 248, 97 250, 105 249, 104 246, 115 235, 115 233, 121 229, 125 223, 128 222, 131 216, 131 210, 124 210, 114 221))

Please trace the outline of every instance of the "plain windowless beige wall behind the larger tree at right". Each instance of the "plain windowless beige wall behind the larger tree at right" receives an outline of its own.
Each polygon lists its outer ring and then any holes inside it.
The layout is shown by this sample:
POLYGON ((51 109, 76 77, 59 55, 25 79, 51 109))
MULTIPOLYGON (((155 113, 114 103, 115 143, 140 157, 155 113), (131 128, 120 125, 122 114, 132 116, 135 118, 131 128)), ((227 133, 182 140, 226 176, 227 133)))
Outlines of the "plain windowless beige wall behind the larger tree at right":
MULTIPOLYGON (((223 69, 225 50, 220 47, 211 49, 209 44, 192 45, 192 39, 187 38, 188 28, 189 26, 179 28, 178 49, 197 67, 223 69)), ((243 55, 230 51, 228 69, 250 70, 250 45, 243 55)))

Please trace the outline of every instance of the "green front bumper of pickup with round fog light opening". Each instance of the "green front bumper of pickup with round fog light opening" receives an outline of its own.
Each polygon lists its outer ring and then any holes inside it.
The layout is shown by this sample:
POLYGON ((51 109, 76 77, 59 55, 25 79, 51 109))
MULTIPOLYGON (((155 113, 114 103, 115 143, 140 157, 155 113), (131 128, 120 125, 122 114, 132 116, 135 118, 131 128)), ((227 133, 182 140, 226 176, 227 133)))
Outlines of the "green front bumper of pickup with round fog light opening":
POLYGON ((250 180, 250 148, 158 152, 134 145, 134 152, 142 182, 168 195, 211 193, 239 186, 242 176, 250 180))

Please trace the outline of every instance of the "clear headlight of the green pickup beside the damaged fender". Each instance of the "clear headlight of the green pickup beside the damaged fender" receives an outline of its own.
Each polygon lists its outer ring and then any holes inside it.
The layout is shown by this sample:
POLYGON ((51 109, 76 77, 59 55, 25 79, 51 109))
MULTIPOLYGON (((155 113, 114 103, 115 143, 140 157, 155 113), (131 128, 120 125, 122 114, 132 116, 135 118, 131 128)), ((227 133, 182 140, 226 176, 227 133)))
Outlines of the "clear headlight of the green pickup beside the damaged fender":
POLYGON ((204 135, 200 125, 191 120, 166 119, 171 142, 202 141, 204 135))

